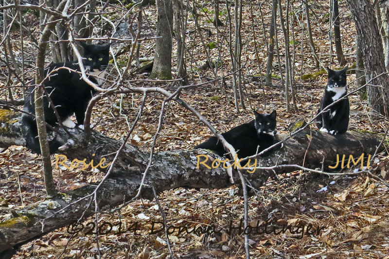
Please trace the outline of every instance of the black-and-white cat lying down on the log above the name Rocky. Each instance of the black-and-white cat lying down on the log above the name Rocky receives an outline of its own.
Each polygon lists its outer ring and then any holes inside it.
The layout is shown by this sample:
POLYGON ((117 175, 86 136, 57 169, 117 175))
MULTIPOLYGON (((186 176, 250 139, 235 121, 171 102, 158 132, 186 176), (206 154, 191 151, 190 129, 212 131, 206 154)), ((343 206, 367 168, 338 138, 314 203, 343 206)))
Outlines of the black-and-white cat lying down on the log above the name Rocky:
MULTIPOLYGON (((239 158, 258 154, 275 144, 274 133, 277 132, 277 112, 273 111, 270 114, 261 114, 254 111, 254 114, 255 120, 239 125, 222 134, 227 142, 237 151, 239 158)), ((272 151, 280 147, 267 151, 263 155, 269 155, 272 151)), ((213 150, 220 156, 227 153, 222 143, 216 137, 209 138, 207 141, 197 145, 195 149, 197 148, 213 150)))

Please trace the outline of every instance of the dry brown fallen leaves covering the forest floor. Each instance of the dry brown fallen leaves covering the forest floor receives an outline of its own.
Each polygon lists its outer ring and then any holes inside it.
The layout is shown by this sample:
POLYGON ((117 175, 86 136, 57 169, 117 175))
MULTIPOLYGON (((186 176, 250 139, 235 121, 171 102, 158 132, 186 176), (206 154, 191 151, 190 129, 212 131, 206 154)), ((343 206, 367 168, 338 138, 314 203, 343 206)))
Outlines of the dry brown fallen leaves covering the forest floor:
MULTIPOLYGON (((328 30, 329 18, 326 16, 328 14, 326 4, 327 1, 320 0, 313 6, 318 23, 317 26, 313 26, 313 30, 323 66, 336 67, 336 56, 330 60, 328 55, 330 45, 328 35, 323 33, 326 30, 325 26, 328 30)), ((343 51, 348 64, 352 65, 355 62, 354 22, 346 3, 341 3, 340 9, 343 13, 341 16, 343 51)), ((153 11, 155 7, 146 7, 145 14, 153 11)), ((202 18, 206 20, 207 12, 203 11, 205 15, 202 18)), ((245 11, 248 12, 248 9, 245 11)), ((270 11, 263 8, 265 28, 268 28, 266 21, 269 20, 270 11)), ((246 17, 252 17, 251 14, 254 13, 247 13, 246 17)), ((255 15, 257 15, 257 24, 260 24, 258 10, 255 15)), ((31 16, 28 18, 35 19, 31 16)), ((244 22, 244 25, 247 25, 243 26, 244 37, 251 32, 250 22, 249 19, 244 22)), ((150 28, 153 28, 152 19, 150 23, 150 28)), ((34 23, 30 24, 33 26, 34 23)), ((296 27, 299 26, 299 21, 294 20, 294 24, 296 27)), ((204 27, 212 31, 212 36, 209 35, 207 41, 216 41, 215 28, 212 27, 212 23, 204 27)), ((257 29, 258 32, 262 30, 259 25, 257 29)), ((296 29, 296 38, 299 37, 299 31, 296 29)), ((18 38, 18 32, 14 32, 13 38, 18 38)), ((28 42, 28 36, 25 38, 28 42)), ((188 66, 189 71, 192 71, 191 84, 210 81, 213 78, 211 69, 194 69, 205 61, 205 54, 198 38, 198 36, 191 38, 188 43, 188 49, 194 50, 195 53, 188 66)), ((282 38, 281 33, 280 38, 282 38)), ((245 46, 249 46, 244 54, 247 58, 248 71, 247 73, 245 71, 244 84, 246 110, 242 107, 240 107, 240 112, 235 110, 231 77, 226 78, 226 84, 223 86, 227 95, 223 94, 217 84, 210 83, 185 90, 181 98, 200 111, 220 132, 252 120, 254 118, 252 109, 266 113, 276 109, 277 129, 280 133, 287 133, 289 123, 300 118, 307 121, 316 114, 326 85, 326 74, 317 76, 311 81, 301 81, 296 76, 298 111, 295 111, 292 105, 288 111, 281 81, 274 79, 273 86, 265 86, 264 78, 260 76, 265 73, 266 41, 258 36, 258 46, 262 50, 254 52, 250 49, 253 47, 252 40, 250 38, 247 42, 245 41, 245 46)), ((294 63, 295 70, 299 71, 296 73, 301 71, 302 74, 307 74, 318 71, 314 66, 312 55, 306 54, 310 53, 309 45, 302 44, 301 41, 300 44, 292 45, 296 46, 296 53, 298 53, 298 48, 301 48, 304 53, 301 56, 296 54, 296 60, 299 59, 294 63)), ((141 53, 147 53, 152 48, 151 46, 152 43, 145 44, 141 53)), ((120 46, 114 47, 120 48, 120 46)), ((217 56, 214 49, 210 52, 212 56, 217 56)), ((34 60, 34 51, 31 53, 30 58, 34 60)), ((223 53, 223 62, 227 64, 229 56, 223 53)), ((284 58, 283 53, 280 56, 284 58)), ((1 69, 5 71, 3 65, 1 69)), ((224 69, 225 74, 229 72, 228 66, 224 69)), ((279 73, 278 65, 275 65, 274 73, 279 73)), ((147 75, 143 73, 133 76, 136 79, 147 79, 147 75)), ((115 76, 115 72, 112 71, 108 79, 114 79, 115 76)), ((5 81, 6 78, 0 78, 2 93, 5 81)), ((169 86, 163 83, 144 80, 133 83, 133 86, 161 86, 169 90, 169 86)), ((355 76, 351 74, 348 76, 348 89, 352 91, 355 88, 355 76)), ((15 98, 21 98, 20 89, 15 91, 15 98)), ((149 95, 143 115, 131 136, 131 144, 143 150, 150 149, 152 137, 158 125, 162 101, 163 97, 158 94, 149 95)), ((92 123, 96 125, 94 129, 111 138, 123 138, 135 119, 140 103, 140 94, 116 95, 100 100, 93 111, 92 123)), ((367 101, 361 100, 358 93, 350 96, 350 108, 349 130, 371 131, 383 135, 389 127, 387 119, 371 120, 367 101)), ((207 127, 200 123, 193 114, 174 102, 166 106, 162 125, 155 147, 156 152, 193 149, 196 144, 212 136, 207 127)), ((344 175, 335 177, 296 171, 279 175, 277 179, 269 178, 260 188, 260 192, 249 199, 250 225, 255 228, 271 219, 278 229, 287 224, 292 226, 304 224, 312 225, 312 229, 319 231, 315 234, 291 234, 289 232, 283 234, 278 233, 279 230, 277 230, 277 233, 267 234, 261 232, 263 229, 260 229, 259 233, 253 230, 249 235, 252 258, 389 259, 388 154, 386 150, 377 156, 371 165, 372 174, 347 174, 347 172, 356 170, 356 167, 353 167, 345 169, 344 175), (377 176, 386 177, 387 184, 377 179, 377 176)), ((52 161, 55 165, 55 156, 52 161)), ((45 198, 41 173, 40 157, 32 155, 25 147, 12 146, 0 152, 0 221, 9 216, 13 210, 32 205, 45 198)), ((53 176, 57 190, 68 192, 85 184, 95 183, 101 180, 104 174, 97 169, 77 168, 70 171, 59 167, 53 170, 53 176)), ((176 232, 169 236, 169 240, 177 258, 238 259, 245 257, 244 235, 241 235, 236 228, 229 235, 230 225, 238 227, 243 218, 244 199, 237 192, 238 188, 235 186, 223 190, 179 188, 164 191, 159 195, 159 202, 166 214, 168 225, 172 226, 171 229, 173 226, 176 228, 176 232), (211 235, 177 233, 178 227, 187 227, 191 230, 193 227, 207 225, 215 226, 217 233, 211 235)), ((96 245, 95 235, 87 231, 93 226, 93 221, 94 218, 88 218, 84 222, 85 231, 74 235, 69 233, 67 227, 64 227, 29 242, 20 248, 14 259, 98 258, 98 249, 102 253, 102 258, 148 258, 141 255, 145 249, 149 250, 149 258, 168 257, 163 231, 156 234, 150 233, 153 222, 162 221, 155 200, 139 200, 127 205, 119 212, 99 214, 100 225, 105 222, 106 227, 108 224, 114 225, 110 233, 98 236, 99 246, 96 245), (127 231, 115 234, 119 222, 122 222, 127 231)), ((160 224, 154 226, 154 228, 157 227, 160 228, 160 224)))

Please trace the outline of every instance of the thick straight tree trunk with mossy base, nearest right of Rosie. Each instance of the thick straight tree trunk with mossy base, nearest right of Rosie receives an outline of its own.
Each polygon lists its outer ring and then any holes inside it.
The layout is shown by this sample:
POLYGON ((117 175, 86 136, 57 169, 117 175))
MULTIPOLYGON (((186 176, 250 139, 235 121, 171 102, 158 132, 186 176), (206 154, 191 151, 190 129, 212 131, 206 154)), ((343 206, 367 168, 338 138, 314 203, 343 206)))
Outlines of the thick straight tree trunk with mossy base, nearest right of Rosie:
POLYGON ((150 78, 172 79, 172 35, 173 3, 172 0, 157 0, 158 21, 155 57, 150 78))

